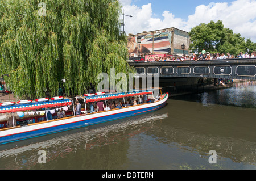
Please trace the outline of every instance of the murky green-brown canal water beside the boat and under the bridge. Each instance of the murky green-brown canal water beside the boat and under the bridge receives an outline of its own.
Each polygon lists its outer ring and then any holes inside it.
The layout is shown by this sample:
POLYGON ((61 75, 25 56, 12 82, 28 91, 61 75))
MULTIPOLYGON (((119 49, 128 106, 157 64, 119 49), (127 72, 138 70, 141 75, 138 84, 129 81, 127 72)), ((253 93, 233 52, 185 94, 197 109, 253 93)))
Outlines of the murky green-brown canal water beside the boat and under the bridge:
POLYGON ((144 115, 0 145, 0 169, 255 170, 255 93, 255 82, 234 83, 144 115))

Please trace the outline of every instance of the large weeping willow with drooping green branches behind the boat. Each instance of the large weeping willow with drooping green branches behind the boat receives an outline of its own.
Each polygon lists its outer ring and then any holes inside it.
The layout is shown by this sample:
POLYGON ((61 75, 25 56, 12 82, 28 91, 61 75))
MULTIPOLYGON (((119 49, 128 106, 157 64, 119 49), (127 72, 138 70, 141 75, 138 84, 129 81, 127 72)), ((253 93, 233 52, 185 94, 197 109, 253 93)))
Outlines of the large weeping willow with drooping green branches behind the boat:
POLYGON ((97 75, 127 65, 115 0, 0 0, 0 74, 18 98, 84 94, 97 75))

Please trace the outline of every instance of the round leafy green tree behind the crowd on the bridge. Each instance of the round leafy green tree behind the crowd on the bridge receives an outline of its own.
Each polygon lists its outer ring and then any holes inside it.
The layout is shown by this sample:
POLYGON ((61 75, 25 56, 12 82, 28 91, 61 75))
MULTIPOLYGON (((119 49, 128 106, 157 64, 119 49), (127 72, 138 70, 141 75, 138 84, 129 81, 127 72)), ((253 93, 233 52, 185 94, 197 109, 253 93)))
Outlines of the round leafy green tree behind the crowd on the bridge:
POLYGON ((211 21, 208 24, 201 23, 189 32, 192 44, 189 50, 201 52, 203 48, 210 53, 230 53, 236 56, 239 52, 253 52, 256 50, 256 43, 250 39, 245 41, 240 34, 233 33, 229 28, 224 28, 222 21, 216 23, 211 21))

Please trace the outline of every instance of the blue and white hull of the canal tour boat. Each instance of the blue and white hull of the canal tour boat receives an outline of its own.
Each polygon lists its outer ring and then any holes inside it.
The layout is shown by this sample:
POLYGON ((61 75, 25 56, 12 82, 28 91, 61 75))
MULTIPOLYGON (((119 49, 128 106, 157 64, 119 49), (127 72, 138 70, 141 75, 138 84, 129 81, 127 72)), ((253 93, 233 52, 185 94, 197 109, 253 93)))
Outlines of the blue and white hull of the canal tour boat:
POLYGON ((0 131, 0 144, 141 115, 143 113, 159 110, 165 106, 167 100, 168 94, 155 103, 141 104, 117 110, 91 113, 88 115, 67 117, 61 120, 52 120, 40 124, 31 124, 26 127, 7 129, 5 131, 0 131))

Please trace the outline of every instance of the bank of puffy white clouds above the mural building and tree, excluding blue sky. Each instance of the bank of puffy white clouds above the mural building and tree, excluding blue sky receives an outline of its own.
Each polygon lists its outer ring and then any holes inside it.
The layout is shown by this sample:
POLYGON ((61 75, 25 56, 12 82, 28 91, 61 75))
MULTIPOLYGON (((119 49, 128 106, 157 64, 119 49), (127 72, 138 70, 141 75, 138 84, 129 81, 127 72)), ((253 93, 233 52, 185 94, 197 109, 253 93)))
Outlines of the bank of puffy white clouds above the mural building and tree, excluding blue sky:
POLYGON ((125 14, 133 15, 133 18, 125 16, 126 33, 140 33, 163 28, 175 27, 180 30, 190 31, 200 23, 217 22, 222 20, 224 27, 230 28, 234 33, 240 33, 245 39, 250 38, 256 42, 256 0, 236 0, 232 3, 209 3, 199 5, 195 13, 188 15, 184 20, 176 17, 170 11, 162 12, 162 19, 153 18, 151 3, 138 7, 131 5, 131 0, 122 0, 125 14))

